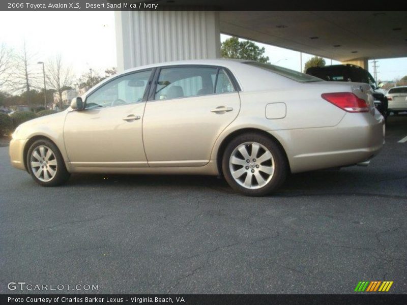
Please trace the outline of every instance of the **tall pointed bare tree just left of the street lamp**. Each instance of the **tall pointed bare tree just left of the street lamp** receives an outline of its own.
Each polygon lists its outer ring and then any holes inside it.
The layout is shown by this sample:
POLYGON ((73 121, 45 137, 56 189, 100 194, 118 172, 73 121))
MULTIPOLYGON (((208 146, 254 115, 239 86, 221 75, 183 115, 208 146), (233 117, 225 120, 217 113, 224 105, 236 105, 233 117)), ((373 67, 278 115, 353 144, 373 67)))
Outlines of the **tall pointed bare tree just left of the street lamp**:
POLYGON ((26 43, 24 41, 21 51, 16 55, 15 60, 15 77, 14 78, 14 90, 26 92, 27 105, 30 105, 30 90, 38 81, 38 74, 35 72, 33 64, 35 63, 36 54, 28 51, 26 43))

